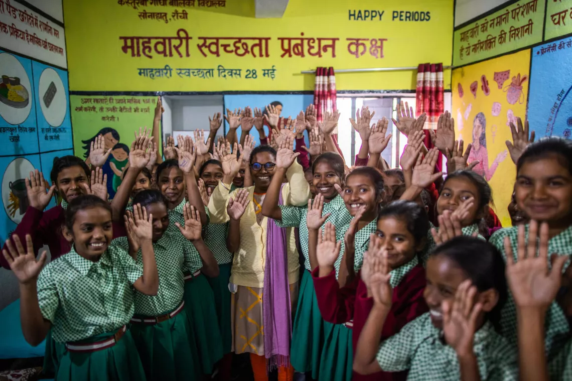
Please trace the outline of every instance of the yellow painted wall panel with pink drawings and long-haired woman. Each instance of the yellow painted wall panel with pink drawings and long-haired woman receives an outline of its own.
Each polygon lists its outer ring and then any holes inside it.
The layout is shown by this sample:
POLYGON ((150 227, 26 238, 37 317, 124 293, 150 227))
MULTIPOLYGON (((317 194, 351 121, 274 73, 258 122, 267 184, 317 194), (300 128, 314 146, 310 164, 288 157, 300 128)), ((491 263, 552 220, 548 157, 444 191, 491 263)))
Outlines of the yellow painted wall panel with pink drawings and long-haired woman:
POLYGON ((510 122, 525 119, 529 87, 530 50, 453 70, 452 114, 458 139, 472 143, 469 162, 480 163, 474 171, 492 187, 496 213, 510 226, 506 207, 516 166, 507 154, 510 122))

